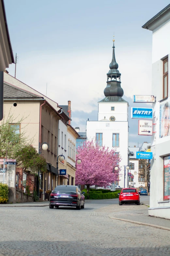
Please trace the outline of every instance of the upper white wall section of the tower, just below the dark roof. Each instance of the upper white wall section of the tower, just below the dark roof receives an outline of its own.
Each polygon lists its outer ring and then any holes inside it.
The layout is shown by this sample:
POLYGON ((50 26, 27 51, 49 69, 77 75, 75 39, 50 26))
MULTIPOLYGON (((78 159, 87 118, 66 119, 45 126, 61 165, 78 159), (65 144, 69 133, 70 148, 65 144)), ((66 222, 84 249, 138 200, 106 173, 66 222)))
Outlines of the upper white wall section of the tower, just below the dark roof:
POLYGON ((128 121, 128 103, 117 103, 117 102, 101 102, 99 103, 98 120, 107 120, 111 116, 116 118, 116 121, 128 121), (111 107, 115 107, 115 110, 111 110, 111 107))

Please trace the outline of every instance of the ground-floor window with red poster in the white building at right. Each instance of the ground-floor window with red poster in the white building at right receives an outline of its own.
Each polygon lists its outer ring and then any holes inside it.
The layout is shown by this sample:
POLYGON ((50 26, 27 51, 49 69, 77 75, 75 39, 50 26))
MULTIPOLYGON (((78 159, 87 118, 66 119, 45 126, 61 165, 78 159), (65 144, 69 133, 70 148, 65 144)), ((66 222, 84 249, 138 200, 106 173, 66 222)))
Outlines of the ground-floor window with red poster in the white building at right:
POLYGON ((169 173, 169 162, 170 162, 170 156, 164 157, 164 163, 163 163, 163 201, 170 199, 170 173, 169 173))

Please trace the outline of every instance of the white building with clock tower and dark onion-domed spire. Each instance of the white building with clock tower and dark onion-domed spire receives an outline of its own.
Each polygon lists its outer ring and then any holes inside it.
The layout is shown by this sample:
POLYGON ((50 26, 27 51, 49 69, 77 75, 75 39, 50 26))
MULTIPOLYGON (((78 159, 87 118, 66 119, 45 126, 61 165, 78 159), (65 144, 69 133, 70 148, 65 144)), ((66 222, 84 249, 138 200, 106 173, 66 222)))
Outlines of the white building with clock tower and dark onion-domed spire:
MULTIPOLYGON (((115 40, 113 40, 115 41, 115 40)), ((87 121, 87 140, 95 139, 99 146, 106 146, 109 149, 116 149, 121 156, 121 187, 128 186, 128 171, 124 175, 124 168, 128 166, 128 107, 121 88, 120 72, 115 59, 115 46, 113 44, 112 62, 107 73, 107 86, 104 89, 105 98, 101 100, 98 112, 98 121, 87 121)))

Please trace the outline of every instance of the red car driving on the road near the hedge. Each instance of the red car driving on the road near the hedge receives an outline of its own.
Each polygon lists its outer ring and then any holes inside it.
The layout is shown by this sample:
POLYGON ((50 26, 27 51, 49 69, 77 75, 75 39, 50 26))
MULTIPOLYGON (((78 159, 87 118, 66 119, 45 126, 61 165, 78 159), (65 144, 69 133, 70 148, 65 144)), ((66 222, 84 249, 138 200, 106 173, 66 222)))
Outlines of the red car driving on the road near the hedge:
POLYGON ((119 205, 123 203, 135 203, 140 205, 140 196, 136 188, 122 188, 119 194, 119 205))

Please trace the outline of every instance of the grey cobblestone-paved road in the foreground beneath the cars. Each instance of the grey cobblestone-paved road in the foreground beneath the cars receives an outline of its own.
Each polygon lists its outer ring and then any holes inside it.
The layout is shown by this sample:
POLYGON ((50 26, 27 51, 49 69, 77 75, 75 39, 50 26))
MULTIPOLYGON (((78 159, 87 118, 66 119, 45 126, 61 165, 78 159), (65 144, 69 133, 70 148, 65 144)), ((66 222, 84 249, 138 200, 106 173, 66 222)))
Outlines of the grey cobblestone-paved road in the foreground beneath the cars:
POLYGON ((0 207, 0 253, 10 256, 168 256, 170 232, 109 218, 145 210, 117 200, 69 207, 0 207))

